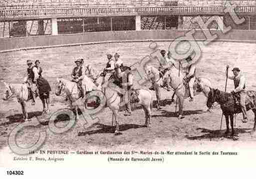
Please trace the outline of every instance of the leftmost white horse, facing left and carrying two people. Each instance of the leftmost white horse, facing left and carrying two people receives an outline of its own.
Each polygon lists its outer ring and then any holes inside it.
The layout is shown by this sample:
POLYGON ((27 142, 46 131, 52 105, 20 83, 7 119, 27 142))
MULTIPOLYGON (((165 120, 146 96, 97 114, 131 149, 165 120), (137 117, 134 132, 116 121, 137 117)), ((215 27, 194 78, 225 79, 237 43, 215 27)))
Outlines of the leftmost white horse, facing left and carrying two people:
MULTIPOLYGON (((23 114, 23 119, 27 121, 27 111, 26 111, 26 103, 30 99, 32 99, 32 96, 28 92, 28 88, 26 84, 11 84, 11 83, 5 83, 3 82, 6 90, 5 93, 3 94, 3 100, 8 100, 11 97, 16 97, 18 102, 21 105, 21 110, 23 114)), ((43 113, 47 113, 49 111, 49 98, 45 98, 44 96, 40 97, 40 100, 42 101, 43 104, 43 113), (46 108, 47 106, 47 108, 46 108)))

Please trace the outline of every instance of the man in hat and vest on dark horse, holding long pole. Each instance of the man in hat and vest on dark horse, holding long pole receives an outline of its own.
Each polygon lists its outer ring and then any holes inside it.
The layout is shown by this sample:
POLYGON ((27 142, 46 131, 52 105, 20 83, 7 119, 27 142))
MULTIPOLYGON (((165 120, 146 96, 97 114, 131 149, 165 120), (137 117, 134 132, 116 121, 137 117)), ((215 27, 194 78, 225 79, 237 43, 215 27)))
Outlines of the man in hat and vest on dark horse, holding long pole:
MULTIPOLYGON (((229 68, 229 65, 227 65, 227 68, 229 68)), ((246 111, 246 77, 242 72, 240 72, 239 68, 233 68, 233 76, 229 76, 228 78, 234 81, 235 89, 231 92, 235 96, 240 96, 239 104, 241 106, 242 112, 243 112, 243 123, 247 123, 247 111, 246 111)))

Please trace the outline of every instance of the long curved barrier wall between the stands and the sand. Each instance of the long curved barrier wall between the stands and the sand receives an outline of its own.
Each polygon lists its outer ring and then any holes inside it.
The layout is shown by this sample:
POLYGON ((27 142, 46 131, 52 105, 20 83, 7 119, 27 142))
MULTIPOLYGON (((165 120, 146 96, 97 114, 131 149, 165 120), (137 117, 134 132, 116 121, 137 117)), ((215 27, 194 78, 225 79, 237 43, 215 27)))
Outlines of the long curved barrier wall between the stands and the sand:
MULTIPOLYGON (((0 52, 109 42, 172 41, 186 32, 188 30, 110 31, 7 38, 0 39, 0 52)), ((231 30, 226 34, 211 30, 211 33, 217 34, 217 40, 221 41, 256 42, 256 30, 231 30)), ((206 39, 202 30, 197 30, 193 37, 196 40, 206 39)))

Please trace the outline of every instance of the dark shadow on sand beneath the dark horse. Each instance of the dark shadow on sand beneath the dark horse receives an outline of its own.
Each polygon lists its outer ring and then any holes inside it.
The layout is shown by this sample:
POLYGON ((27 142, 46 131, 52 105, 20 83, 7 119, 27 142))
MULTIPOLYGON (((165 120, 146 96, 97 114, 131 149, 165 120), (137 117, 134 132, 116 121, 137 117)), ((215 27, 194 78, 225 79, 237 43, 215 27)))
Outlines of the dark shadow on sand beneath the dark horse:
MULTIPOLYGON (((229 133, 229 135, 226 135, 226 129, 224 130, 210 130, 210 129, 205 129, 205 128, 197 128, 197 130, 202 130, 202 133, 207 133, 201 136, 193 136, 193 137, 189 137, 189 136, 185 136, 185 138, 189 139, 189 140, 202 140, 202 139, 218 139, 218 138, 227 138, 227 139, 231 139, 232 137, 231 132, 229 133)), ((247 133, 251 133, 252 129, 249 128, 243 128, 243 129, 235 129, 235 136, 239 135, 239 134, 247 134, 247 133)))

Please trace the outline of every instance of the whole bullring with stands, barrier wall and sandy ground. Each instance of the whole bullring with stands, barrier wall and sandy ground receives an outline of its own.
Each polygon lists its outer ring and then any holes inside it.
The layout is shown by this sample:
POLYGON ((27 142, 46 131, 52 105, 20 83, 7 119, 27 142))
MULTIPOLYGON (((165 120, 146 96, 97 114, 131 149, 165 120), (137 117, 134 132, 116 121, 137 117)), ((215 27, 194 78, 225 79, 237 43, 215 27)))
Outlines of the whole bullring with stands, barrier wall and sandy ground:
MULTIPOLYGON (((137 0, 134 1, 136 3, 129 2, 127 5, 125 5, 126 2, 104 5, 97 1, 98 3, 91 4, 93 7, 90 7, 90 4, 86 4, 85 7, 82 2, 79 5, 67 3, 66 6, 56 8, 50 6, 50 2, 45 3, 48 6, 43 6, 41 3, 36 6, 37 4, 33 3, 36 7, 32 3, 28 6, 25 3, 16 2, 14 8, 15 1, 11 5, 5 4, 5 7, 3 5, 0 11, 1 86, 3 86, 3 82, 21 83, 26 72, 26 60, 39 59, 44 77, 52 88, 51 111, 56 111, 67 106, 63 96, 54 94, 56 78, 70 79, 75 59, 82 57, 85 64, 94 65, 98 71, 102 71, 107 62, 106 53, 118 52, 124 64, 129 66, 153 52, 153 49, 149 48, 152 41, 158 44, 159 49, 167 51, 175 38, 184 35, 189 29, 196 28, 194 38, 202 50, 202 57, 197 65, 197 75, 209 79, 215 88, 224 91, 227 64, 232 67, 239 66, 247 77, 248 90, 256 90, 256 16, 253 14, 256 10, 255 1, 238 1, 237 9, 242 9, 239 15, 245 16, 246 19, 240 25, 235 25, 229 20, 230 17, 222 9, 224 4, 219 1, 217 3, 211 0, 210 3, 210 0, 200 2, 192 0, 188 1, 188 3, 193 2, 189 4, 186 4, 185 0, 182 3, 173 2, 173 4, 157 0, 149 1, 150 3, 145 1, 146 4, 143 4, 144 1, 141 3, 137 0), (89 8, 97 11, 100 8, 108 8, 110 5, 111 8, 116 8, 116 11, 112 10, 109 13, 98 11, 95 14, 93 14, 94 11, 90 11, 89 15, 86 14, 89 8), (72 8, 72 6, 74 7, 72 8), (160 7, 163 8, 162 11, 159 10, 160 7), (167 7, 169 10, 166 9, 167 7), (170 11, 170 8, 177 7, 181 7, 180 11, 170 11), (193 9, 192 12, 186 10, 185 7, 193 9), (197 11, 196 7, 202 7, 202 9, 209 7, 208 9, 211 10, 208 13, 198 8, 197 11), (65 14, 62 12, 53 14, 57 8, 62 11, 65 9, 65 14), (121 8, 123 10, 120 10, 121 8), (141 8, 141 11, 130 12, 125 10, 126 8, 141 8), (155 10, 150 11, 150 8, 155 8, 155 10), (11 9, 12 12, 10 12, 11 9), (37 10, 38 13, 45 10, 45 13, 38 15, 32 9, 37 10), (71 12, 74 9, 80 9, 79 13, 71 12), (118 9, 119 12, 117 12, 118 9), (14 11, 16 12, 14 13, 14 11), (5 15, 3 16, 3 14, 5 15), (205 45, 203 31, 190 22, 190 18, 196 15, 204 16, 205 19, 211 15, 220 15, 226 25, 232 26, 232 30, 223 34, 221 31, 223 27, 220 28, 218 25, 212 24, 212 33, 217 33, 219 37, 205 45), (125 18, 122 18, 123 16, 125 18), (88 18, 90 19, 88 20, 88 18)), ((54 3, 57 4, 57 2, 54 3)), ((54 3, 52 2, 53 5, 54 3)), ((183 43, 179 46, 178 51, 186 52, 189 48, 189 43, 183 43)), ((157 63, 153 65, 157 66, 157 63)), ((228 80, 227 91, 232 91, 233 86, 233 81, 228 80)), ((4 88, 0 88, 0 94, 3 93, 4 88)), ((151 93, 156 100, 155 92, 151 91, 151 93)), ((133 111, 132 116, 124 116, 124 112, 120 112, 121 135, 114 136, 115 128, 111 124, 112 112, 106 108, 104 112, 97 115, 99 122, 91 128, 85 129, 77 123, 68 132, 48 135, 42 147, 74 151, 76 149, 90 151, 96 148, 118 150, 141 147, 148 150, 193 147, 198 149, 205 147, 234 149, 243 148, 245 144, 250 146, 256 142, 256 136, 251 134, 254 125, 252 112, 248 112, 249 122, 246 124, 242 123, 241 114, 237 116, 235 133, 238 138, 234 141, 224 135, 225 120, 222 130, 220 130, 222 111, 219 105, 212 112, 206 112, 207 99, 203 94, 199 94, 193 102, 185 100, 185 118, 179 120, 175 114, 176 104, 170 102, 172 94, 173 91, 168 92, 161 89, 164 104, 160 111, 153 108, 150 128, 143 127, 144 112, 142 109, 133 111)), ((31 146, 38 139, 38 131, 48 128, 47 119, 41 116, 41 102, 37 100, 35 106, 31 106, 28 102, 27 106, 28 117, 36 117, 41 124, 36 128, 25 128, 18 133, 17 143, 24 148, 31 146)), ((67 121, 66 116, 60 116, 57 125, 65 126, 67 121)), ((9 151, 8 135, 21 122, 22 113, 16 99, 1 100, 0 150, 2 152, 9 151)))

